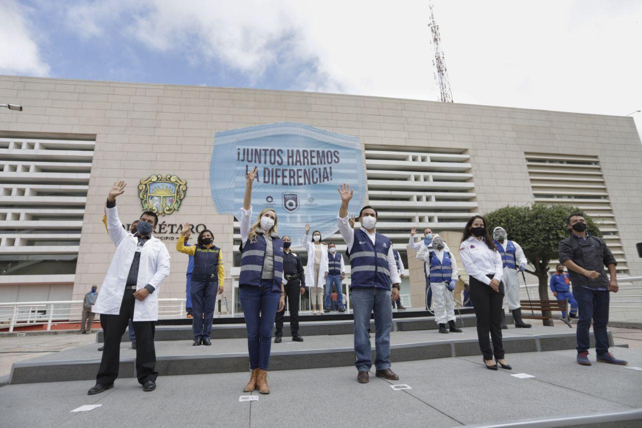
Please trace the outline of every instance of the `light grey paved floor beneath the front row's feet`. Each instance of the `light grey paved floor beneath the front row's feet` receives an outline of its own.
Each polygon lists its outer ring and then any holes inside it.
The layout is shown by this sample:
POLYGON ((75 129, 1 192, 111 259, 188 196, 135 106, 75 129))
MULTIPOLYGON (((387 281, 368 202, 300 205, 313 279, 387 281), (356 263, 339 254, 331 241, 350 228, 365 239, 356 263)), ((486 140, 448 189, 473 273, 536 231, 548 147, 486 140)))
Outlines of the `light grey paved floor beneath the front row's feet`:
MULTIPOLYGON (((551 328, 552 329, 552 328, 551 328)), ((512 332, 512 330, 509 330, 512 332)), ((433 334, 430 332, 429 334, 433 334)), ((435 333, 437 334, 437 333, 435 333)), ((397 339, 394 339, 395 341, 397 339)), ((293 345, 283 345, 293 346, 293 345)), ((95 352, 95 351, 94 351, 95 352)), ((640 350, 614 348, 642 366, 640 350)), ((594 362, 594 351, 591 360, 594 362)), ((480 355, 393 361, 391 382, 356 382, 354 367, 270 371, 270 395, 241 392, 248 373, 159 377, 144 393, 135 379, 87 395, 94 381, 7 385, 0 388, 0 426, 152 427, 639 427, 642 372, 627 366, 579 366, 574 350, 508 354, 512 372, 491 372, 480 355), (531 379, 517 379, 528 373, 531 379), (239 402, 241 395, 257 401, 239 402), (89 412, 71 413, 87 404, 89 412)))

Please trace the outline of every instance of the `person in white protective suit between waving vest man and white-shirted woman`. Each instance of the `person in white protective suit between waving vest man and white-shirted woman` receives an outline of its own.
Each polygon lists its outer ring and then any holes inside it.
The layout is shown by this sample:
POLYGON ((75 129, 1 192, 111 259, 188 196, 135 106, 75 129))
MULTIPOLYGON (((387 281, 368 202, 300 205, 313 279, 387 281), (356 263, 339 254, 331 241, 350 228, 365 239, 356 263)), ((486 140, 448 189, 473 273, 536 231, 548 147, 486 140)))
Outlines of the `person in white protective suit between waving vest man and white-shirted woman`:
POLYGON ((449 331, 460 333, 455 325, 455 284, 457 282, 457 262, 455 257, 447 251, 444 238, 440 235, 433 235, 432 242, 426 246, 421 243, 417 252, 417 259, 426 263, 430 288, 433 291, 433 309, 435 310, 435 321, 439 324, 439 332, 449 331), (449 325, 449 329, 446 328, 449 325))

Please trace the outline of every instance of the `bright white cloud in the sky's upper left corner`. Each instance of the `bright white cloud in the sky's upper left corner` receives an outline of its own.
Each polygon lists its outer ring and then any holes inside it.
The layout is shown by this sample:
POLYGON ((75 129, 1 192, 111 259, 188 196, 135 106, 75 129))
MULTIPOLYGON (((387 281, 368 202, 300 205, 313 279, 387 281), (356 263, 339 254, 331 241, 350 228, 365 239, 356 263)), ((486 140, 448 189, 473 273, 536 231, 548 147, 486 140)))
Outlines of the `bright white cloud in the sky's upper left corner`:
POLYGON ((47 76, 25 11, 14 0, 0 0, 0 74, 47 76))

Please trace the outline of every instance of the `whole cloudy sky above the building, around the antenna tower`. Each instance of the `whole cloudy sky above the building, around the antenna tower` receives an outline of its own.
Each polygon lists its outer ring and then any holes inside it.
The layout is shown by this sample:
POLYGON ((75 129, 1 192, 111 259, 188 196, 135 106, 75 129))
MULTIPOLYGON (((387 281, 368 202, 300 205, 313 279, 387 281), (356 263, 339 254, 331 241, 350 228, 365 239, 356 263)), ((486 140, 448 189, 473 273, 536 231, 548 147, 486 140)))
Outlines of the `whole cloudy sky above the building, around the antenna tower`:
MULTIPOLYGON (((642 109, 642 1, 434 3, 455 102, 642 109)), ((0 74, 436 100, 428 21, 428 0, 0 0, 0 74)))

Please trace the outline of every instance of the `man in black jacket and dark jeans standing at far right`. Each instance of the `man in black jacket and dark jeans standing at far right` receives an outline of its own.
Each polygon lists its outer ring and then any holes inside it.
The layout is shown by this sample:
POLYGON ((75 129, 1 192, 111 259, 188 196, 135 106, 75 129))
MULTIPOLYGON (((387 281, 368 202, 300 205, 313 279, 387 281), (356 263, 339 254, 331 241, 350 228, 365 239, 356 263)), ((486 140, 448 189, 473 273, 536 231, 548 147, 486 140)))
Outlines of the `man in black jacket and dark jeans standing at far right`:
POLYGON ((597 361, 609 364, 627 364, 609 353, 609 292, 618 292, 615 257, 602 239, 586 232, 584 213, 574 212, 567 219, 573 234, 559 244, 560 263, 568 268, 573 284, 573 296, 579 308, 577 323, 577 363, 590 366, 589 328, 593 321, 597 361), (607 277, 604 266, 609 269, 607 277))

